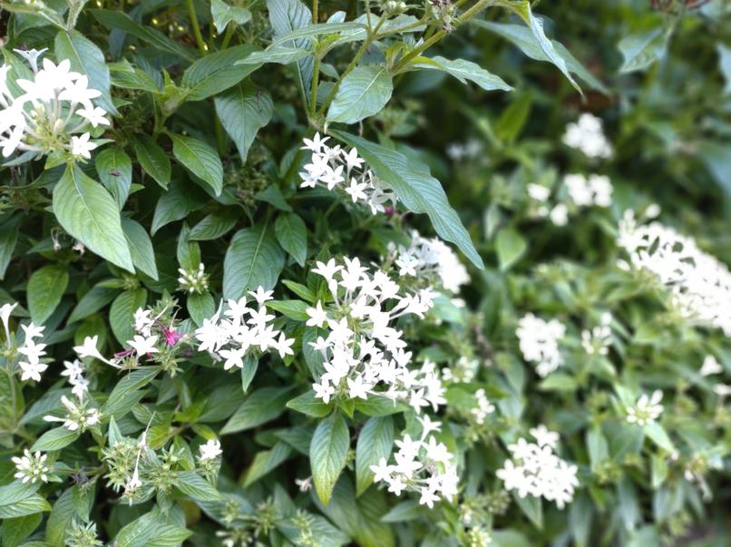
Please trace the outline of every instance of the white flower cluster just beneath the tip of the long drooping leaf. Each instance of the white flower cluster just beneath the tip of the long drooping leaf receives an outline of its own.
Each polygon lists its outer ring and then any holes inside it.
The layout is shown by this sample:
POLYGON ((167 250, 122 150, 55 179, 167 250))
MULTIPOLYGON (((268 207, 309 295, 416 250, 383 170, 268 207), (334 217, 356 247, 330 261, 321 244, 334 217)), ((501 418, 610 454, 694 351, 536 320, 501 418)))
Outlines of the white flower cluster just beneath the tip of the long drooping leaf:
POLYGON ((401 276, 433 280, 453 293, 470 282, 467 269, 442 239, 423 238, 418 231, 412 230, 410 247, 391 242, 388 252, 401 276))

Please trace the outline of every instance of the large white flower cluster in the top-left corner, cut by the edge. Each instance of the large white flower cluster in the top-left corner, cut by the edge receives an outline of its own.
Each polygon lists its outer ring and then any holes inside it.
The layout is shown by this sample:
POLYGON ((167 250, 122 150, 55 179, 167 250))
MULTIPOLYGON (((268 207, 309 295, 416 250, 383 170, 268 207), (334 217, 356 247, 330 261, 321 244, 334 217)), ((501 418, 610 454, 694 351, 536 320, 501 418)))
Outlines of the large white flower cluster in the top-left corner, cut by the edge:
POLYGON ((34 79, 17 78, 24 93, 17 97, 8 86, 9 64, 0 66, 0 147, 5 158, 16 150, 46 154, 70 151, 76 158, 91 158, 97 144, 90 141, 89 124, 109 125, 106 111, 93 103, 101 96, 89 87, 87 76, 72 72, 71 62, 55 64, 38 58, 45 50, 20 51, 33 69, 34 79), (81 133, 79 135, 79 133, 81 133))

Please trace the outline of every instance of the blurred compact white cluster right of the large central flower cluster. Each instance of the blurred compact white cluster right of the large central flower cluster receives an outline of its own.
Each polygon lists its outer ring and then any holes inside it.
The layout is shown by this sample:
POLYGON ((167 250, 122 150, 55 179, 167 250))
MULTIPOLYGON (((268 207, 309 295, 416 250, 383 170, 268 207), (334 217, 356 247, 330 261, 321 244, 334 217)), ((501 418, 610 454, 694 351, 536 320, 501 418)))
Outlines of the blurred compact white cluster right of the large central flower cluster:
POLYGON ((558 319, 546 321, 529 313, 521 317, 515 334, 523 358, 535 363, 538 376, 548 376, 563 364, 559 341, 566 335, 566 327, 558 319))

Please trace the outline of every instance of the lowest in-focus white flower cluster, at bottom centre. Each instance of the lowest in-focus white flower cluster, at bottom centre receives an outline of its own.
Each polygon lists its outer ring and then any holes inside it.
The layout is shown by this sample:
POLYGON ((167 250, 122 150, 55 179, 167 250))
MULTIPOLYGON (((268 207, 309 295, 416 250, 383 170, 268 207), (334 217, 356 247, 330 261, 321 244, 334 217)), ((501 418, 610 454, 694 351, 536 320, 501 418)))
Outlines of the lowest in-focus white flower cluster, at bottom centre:
POLYGON ((440 498, 451 500, 456 495, 459 476, 453 454, 431 435, 433 431, 439 431, 442 423, 432 422, 429 416, 420 421, 424 426, 421 439, 404 435, 396 441, 395 464, 388 464, 381 458, 370 469, 375 483, 388 484, 388 492, 396 495, 404 490, 418 492, 421 494, 419 503, 432 508, 440 498))

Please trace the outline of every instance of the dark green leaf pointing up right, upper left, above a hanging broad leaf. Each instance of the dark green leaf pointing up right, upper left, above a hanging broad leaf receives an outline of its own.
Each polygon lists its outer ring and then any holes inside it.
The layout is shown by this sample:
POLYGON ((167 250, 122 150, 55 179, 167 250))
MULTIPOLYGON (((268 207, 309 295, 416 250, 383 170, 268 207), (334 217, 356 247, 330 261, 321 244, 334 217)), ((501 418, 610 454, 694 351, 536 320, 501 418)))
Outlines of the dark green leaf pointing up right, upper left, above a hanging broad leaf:
POLYGON ((236 85, 257 70, 257 64, 237 61, 258 50, 253 44, 242 44, 215 52, 192 63, 183 73, 181 84, 189 101, 200 101, 236 85))

